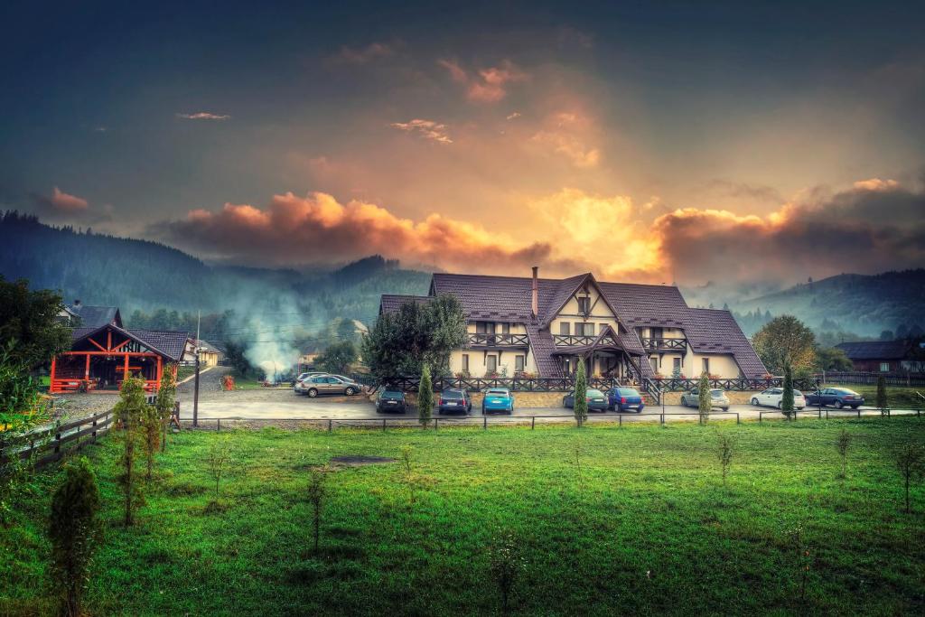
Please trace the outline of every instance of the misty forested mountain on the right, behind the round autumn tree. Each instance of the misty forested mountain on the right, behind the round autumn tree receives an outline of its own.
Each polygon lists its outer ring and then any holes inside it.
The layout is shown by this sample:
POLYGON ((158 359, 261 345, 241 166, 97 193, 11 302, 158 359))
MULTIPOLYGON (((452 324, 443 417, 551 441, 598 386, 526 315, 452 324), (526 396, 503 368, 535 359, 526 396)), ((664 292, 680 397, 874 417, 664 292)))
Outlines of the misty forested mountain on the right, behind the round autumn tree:
POLYGON ((901 334, 925 327, 925 269, 843 274, 730 305, 738 314, 796 315, 822 331, 901 334))

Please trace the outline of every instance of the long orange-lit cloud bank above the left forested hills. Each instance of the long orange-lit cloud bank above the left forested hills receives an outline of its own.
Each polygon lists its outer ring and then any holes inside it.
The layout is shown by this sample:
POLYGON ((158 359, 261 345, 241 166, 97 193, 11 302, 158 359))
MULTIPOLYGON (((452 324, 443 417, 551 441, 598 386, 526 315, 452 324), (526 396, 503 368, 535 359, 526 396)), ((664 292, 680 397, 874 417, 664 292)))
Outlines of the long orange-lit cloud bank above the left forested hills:
POLYGON ((193 210, 150 231, 197 253, 239 263, 334 263, 379 253, 407 265, 462 272, 525 274, 537 264, 558 274, 588 268, 580 260, 555 258, 547 243, 517 241, 440 215, 415 222, 376 204, 340 204, 322 192, 275 195, 265 209, 225 204, 215 213, 193 210))

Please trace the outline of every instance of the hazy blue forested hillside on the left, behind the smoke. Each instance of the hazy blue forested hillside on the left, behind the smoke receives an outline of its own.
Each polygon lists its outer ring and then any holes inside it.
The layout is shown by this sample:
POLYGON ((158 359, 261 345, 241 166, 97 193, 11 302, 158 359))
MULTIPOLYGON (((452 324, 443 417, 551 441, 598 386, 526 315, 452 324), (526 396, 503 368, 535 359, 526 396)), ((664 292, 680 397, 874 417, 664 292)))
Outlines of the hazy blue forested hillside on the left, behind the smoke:
POLYGON ((203 314, 273 306, 304 315, 306 327, 333 317, 370 323, 382 293, 426 293, 430 275, 367 257, 329 272, 204 264, 151 241, 53 228, 34 216, 0 217, 0 274, 33 288, 61 290, 65 300, 117 305, 122 315, 166 308, 203 314))

